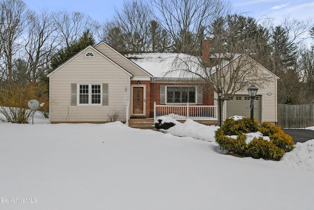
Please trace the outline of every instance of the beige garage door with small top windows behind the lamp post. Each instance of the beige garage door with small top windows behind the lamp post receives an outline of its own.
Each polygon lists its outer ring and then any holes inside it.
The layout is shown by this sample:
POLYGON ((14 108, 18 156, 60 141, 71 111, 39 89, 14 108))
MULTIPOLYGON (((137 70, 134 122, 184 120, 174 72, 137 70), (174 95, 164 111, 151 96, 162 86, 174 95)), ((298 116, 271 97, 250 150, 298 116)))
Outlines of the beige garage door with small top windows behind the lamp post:
MULTIPOLYGON (((251 98, 248 95, 235 95, 232 100, 226 101, 227 118, 231 116, 251 117, 251 98)), ((257 95, 254 99, 254 118, 261 122, 262 119, 262 96, 257 95)))

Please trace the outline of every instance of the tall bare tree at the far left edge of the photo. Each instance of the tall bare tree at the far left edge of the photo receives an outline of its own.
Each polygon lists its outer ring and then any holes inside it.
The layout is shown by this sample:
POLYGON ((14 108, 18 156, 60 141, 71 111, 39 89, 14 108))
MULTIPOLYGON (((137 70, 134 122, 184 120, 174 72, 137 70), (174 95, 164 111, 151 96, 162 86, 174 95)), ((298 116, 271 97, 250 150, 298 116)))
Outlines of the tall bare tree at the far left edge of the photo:
POLYGON ((2 79, 12 81, 13 60, 20 48, 20 39, 25 29, 26 4, 22 0, 0 2, 0 42, 2 55, 2 79))

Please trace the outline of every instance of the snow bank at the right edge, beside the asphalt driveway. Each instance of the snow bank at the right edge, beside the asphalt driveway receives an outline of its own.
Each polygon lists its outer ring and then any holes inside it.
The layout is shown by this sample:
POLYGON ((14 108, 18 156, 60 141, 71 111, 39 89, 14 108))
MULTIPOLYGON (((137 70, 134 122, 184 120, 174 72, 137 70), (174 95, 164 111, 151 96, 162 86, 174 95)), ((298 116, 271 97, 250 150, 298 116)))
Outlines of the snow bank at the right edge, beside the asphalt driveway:
POLYGON ((294 150, 287 152, 281 164, 314 171, 314 139, 297 143, 294 150))

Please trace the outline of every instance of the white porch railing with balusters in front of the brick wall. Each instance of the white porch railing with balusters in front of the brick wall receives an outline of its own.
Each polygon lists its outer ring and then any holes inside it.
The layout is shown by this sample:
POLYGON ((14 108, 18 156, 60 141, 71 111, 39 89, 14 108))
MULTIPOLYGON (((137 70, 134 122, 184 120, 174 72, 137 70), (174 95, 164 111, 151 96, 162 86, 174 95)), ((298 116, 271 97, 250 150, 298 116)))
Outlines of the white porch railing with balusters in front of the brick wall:
POLYGON ((154 121, 160 116, 177 120, 217 120, 217 107, 210 105, 157 105, 154 102, 154 121))

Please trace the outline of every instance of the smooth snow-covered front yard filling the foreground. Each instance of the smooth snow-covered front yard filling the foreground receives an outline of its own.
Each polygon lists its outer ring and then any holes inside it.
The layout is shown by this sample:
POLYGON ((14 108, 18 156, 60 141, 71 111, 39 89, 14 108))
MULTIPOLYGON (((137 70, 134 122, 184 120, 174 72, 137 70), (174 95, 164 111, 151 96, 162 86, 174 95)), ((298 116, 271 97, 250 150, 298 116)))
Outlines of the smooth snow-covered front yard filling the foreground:
POLYGON ((0 210, 314 209, 314 140, 266 161, 220 154, 217 128, 190 120, 174 135, 34 122, 0 123, 0 210))

